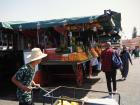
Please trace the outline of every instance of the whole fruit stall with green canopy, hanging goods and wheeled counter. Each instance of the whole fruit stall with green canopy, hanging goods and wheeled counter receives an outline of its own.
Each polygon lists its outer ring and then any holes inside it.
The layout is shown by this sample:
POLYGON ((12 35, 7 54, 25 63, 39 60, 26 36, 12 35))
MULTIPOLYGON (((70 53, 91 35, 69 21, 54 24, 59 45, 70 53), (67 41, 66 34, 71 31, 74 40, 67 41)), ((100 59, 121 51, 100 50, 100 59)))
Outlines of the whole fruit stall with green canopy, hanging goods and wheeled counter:
POLYGON ((106 41, 119 42, 121 14, 105 10, 103 15, 98 16, 13 24, 12 27, 15 30, 22 28, 25 47, 30 42, 32 47, 38 46, 48 54, 37 72, 46 71, 47 79, 41 80, 43 85, 44 81, 54 77, 70 77, 82 86, 86 74, 92 75, 90 60, 100 57, 99 46, 106 41))

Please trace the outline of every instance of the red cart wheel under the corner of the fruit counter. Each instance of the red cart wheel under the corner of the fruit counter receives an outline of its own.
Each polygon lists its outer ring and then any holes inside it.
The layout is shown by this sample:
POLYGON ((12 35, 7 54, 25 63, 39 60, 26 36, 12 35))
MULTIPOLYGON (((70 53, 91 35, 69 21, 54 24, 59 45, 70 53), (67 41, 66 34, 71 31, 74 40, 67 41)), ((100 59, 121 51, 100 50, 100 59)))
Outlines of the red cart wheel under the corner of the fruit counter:
POLYGON ((81 65, 77 66, 76 70, 76 83, 80 87, 83 85, 83 71, 81 65))

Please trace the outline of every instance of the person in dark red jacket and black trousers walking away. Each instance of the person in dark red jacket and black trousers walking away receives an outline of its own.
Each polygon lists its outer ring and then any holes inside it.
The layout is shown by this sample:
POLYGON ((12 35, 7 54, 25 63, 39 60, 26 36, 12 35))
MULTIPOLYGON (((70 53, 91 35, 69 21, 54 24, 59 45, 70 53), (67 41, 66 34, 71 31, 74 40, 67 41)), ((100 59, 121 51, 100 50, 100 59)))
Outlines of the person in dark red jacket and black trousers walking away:
POLYGON ((109 95, 112 97, 113 93, 117 92, 117 83, 116 83, 116 70, 112 67, 112 55, 114 49, 111 47, 111 43, 107 42, 105 45, 105 50, 101 53, 101 64, 102 64, 102 71, 105 73, 106 81, 107 81, 107 88, 109 95), (112 89, 112 82, 113 82, 113 89, 112 89))

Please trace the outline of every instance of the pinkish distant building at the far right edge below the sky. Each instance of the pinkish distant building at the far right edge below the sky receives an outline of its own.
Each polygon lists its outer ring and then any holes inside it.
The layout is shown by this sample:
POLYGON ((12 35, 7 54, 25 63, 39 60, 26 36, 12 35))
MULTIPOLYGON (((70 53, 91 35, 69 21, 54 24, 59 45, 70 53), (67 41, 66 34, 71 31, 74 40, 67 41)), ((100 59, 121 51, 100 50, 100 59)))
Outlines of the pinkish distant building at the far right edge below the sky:
POLYGON ((126 47, 129 48, 135 48, 135 46, 140 47, 140 36, 137 36, 136 38, 133 39, 122 40, 122 45, 125 45, 126 47))

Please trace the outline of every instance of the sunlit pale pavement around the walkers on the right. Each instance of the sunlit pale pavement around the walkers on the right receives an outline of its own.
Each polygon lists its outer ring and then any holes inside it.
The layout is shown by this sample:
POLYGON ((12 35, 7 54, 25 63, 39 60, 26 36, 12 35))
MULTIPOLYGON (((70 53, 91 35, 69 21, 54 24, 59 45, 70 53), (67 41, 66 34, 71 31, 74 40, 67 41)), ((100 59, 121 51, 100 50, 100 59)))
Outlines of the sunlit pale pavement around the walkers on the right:
MULTIPOLYGON (((121 81, 121 73, 117 71, 117 91, 121 95, 121 105, 140 105, 140 58, 132 59, 132 62, 125 81, 121 81)), ((91 88, 107 91, 104 73, 100 73, 99 77, 101 79, 91 88)))

